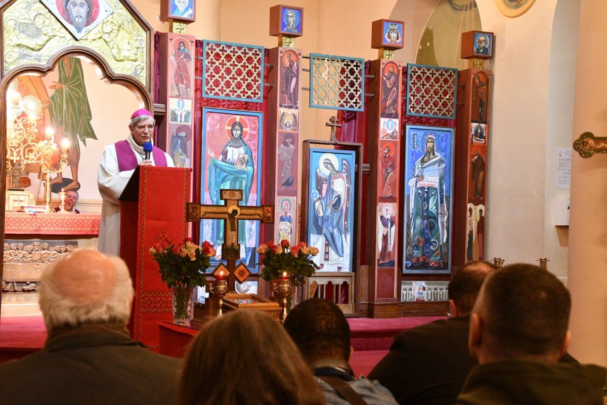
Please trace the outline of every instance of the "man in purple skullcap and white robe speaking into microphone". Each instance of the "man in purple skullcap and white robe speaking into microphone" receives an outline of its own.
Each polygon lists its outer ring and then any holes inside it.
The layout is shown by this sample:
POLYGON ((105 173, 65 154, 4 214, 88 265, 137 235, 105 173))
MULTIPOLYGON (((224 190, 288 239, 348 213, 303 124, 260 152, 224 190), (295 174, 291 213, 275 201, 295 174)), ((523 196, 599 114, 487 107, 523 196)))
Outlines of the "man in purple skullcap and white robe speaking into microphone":
POLYGON ((138 165, 174 167, 171 157, 161 149, 146 144, 152 143, 155 120, 151 112, 137 110, 131 115, 126 140, 108 145, 103 150, 97 186, 103 198, 101 223, 99 226, 98 250, 106 254, 120 255, 120 201, 126 183, 138 165), (144 149, 147 150, 144 151, 144 149))

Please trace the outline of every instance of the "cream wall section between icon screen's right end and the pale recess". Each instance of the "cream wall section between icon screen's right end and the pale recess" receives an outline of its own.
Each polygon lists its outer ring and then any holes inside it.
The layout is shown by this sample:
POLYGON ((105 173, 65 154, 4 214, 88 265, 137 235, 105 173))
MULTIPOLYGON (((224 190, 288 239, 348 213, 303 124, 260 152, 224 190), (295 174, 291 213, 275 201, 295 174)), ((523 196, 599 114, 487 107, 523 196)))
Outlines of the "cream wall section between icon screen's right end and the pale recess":
MULTIPOLYGON (((544 255, 544 196, 552 17, 557 0, 508 18, 477 1, 483 30, 495 33, 487 182, 487 257, 536 263, 544 255), (534 151, 538 151, 534 152, 534 151)), ((566 277, 564 263, 550 263, 566 277)))

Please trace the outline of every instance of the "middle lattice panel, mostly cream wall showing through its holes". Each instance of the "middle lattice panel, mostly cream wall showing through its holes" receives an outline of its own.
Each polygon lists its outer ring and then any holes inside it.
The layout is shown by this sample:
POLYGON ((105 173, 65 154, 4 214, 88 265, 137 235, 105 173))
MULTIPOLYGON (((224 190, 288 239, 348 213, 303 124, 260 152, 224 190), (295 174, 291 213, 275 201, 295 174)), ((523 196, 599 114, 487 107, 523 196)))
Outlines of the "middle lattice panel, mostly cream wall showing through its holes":
POLYGON ((310 107, 363 111, 365 61, 310 53, 310 107))

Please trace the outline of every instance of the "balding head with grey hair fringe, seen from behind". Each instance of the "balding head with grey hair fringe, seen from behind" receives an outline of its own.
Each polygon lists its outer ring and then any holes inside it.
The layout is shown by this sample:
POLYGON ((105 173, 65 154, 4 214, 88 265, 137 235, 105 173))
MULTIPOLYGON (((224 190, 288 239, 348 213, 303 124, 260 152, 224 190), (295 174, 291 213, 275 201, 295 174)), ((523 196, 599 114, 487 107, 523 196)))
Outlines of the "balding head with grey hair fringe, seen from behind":
POLYGON ((90 249, 73 251, 44 268, 40 285, 40 309, 49 331, 129 321, 133 287, 120 257, 90 249))

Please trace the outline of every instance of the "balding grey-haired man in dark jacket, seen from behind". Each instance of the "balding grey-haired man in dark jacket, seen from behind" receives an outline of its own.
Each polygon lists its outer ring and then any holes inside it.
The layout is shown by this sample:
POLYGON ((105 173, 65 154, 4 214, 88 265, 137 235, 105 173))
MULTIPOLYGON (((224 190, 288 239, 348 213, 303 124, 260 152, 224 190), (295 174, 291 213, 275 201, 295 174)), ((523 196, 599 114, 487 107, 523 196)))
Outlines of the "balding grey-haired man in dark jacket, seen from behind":
POLYGON ((133 287, 122 259, 76 250, 44 268, 40 287, 49 336, 42 352, 0 364, 0 392, 7 401, 174 403, 181 360, 129 338, 133 287))

